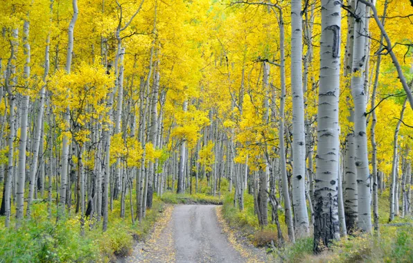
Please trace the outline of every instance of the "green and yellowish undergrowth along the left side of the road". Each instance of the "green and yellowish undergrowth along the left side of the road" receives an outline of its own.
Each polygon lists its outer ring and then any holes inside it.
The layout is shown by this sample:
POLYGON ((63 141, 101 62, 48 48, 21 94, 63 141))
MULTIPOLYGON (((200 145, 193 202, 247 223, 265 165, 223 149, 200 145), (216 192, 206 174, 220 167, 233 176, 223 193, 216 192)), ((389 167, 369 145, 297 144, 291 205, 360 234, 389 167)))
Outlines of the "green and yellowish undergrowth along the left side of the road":
POLYGON ((130 206, 122 219, 120 201, 115 200, 107 231, 103 232, 101 221, 86 219, 82 235, 80 217, 74 210, 56 221, 55 206, 49 219, 47 203, 34 203, 31 218, 18 229, 14 218, 11 227, 5 228, 5 217, 0 217, 0 262, 114 262, 116 257, 130 254, 135 240, 146 237, 164 206, 155 196, 146 218, 132 224, 130 206))

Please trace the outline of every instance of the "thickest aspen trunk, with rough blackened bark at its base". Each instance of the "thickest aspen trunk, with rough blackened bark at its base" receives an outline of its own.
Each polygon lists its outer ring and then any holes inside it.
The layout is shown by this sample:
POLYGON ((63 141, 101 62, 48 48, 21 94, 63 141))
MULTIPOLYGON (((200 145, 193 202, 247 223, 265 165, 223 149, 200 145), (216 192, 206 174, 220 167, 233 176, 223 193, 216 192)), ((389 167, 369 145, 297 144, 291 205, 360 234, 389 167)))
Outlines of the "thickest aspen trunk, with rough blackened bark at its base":
POLYGON ((340 143, 338 100, 340 95, 340 25, 338 1, 322 0, 320 41, 319 106, 317 112, 317 159, 314 199, 315 253, 340 237, 337 206, 337 178, 340 143))

